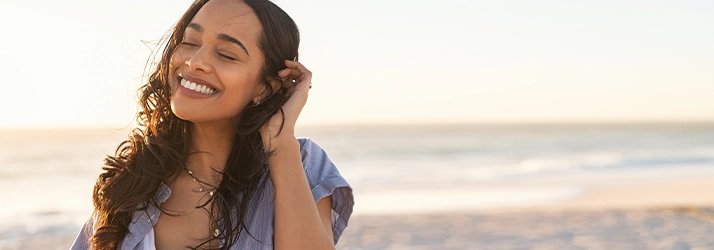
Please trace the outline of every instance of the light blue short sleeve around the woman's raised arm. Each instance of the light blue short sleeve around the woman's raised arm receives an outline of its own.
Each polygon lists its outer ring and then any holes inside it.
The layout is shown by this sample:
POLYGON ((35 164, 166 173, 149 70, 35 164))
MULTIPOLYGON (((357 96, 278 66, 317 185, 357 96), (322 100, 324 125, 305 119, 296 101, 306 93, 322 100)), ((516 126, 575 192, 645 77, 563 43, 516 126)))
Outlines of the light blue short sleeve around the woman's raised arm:
POLYGON ((355 204, 352 187, 342 177, 325 150, 317 143, 307 138, 301 138, 300 144, 305 176, 310 184, 315 203, 324 197, 331 196, 332 235, 335 245, 337 245, 337 241, 347 227, 355 204))

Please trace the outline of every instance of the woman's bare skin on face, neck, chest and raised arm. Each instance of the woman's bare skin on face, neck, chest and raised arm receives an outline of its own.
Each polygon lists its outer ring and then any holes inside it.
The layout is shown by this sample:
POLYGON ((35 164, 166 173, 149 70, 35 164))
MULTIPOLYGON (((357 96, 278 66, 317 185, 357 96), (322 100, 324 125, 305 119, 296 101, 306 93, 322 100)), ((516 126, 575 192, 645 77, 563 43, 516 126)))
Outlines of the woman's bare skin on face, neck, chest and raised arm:
MULTIPOLYGON (((192 122, 191 152, 202 153, 189 155, 186 166, 210 187, 220 183, 216 171, 223 170, 230 153, 234 135, 230 119, 266 95, 265 85, 258 79, 264 62, 258 46, 262 28, 249 6, 231 0, 208 2, 191 23, 200 28, 187 28, 185 43, 170 63, 171 108, 178 117, 192 122), (235 38, 243 47, 219 39, 221 34, 235 38), (191 96, 181 89, 184 77, 199 79, 217 92, 191 96)), ((285 66, 278 72, 282 82, 271 82, 274 88, 287 88, 290 93, 283 106, 284 127, 281 131, 283 117, 278 112, 260 129, 265 148, 275 150, 268 160, 275 190, 274 249, 334 249, 331 199, 328 196, 315 204, 295 137, 295 123, 307 102, 312 73, 298 62, 286 60, 285 66)), ((161 207, 179 216, 159 217, 154 227, 156 248, 200 244, 212 233, 207 211, 195 208, 208 200, 207 193, 192 191, 199 186, 186 171, 167 180, 167 185, 172 193, 161 207)))

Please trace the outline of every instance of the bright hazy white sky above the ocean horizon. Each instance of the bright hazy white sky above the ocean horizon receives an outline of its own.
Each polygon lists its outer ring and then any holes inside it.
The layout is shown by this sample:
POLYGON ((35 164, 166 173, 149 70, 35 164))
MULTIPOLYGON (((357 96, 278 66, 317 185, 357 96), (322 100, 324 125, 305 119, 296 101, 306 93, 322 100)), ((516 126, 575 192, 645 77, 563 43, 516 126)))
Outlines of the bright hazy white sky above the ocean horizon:
MULTIPOLYGON (((274 1, 299 124, 714 121, 714 1, 274 1)), ((124 127, 188 0, 2 1, 0 128, 124 127)))

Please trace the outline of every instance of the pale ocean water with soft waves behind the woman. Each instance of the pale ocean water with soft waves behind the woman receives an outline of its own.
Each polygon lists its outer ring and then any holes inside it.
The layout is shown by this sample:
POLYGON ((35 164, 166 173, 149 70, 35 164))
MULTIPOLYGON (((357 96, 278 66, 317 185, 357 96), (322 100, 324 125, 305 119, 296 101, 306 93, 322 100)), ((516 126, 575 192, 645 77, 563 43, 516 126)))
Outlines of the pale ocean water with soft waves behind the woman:
MULTIPOLYGON (((0 130, 0 249, 78 232, 102 159, 127 132, 0 130)), ((714 123, 304 126, 297 135, 353 186, 355 214, 527 206, 596 185, 714 176, 714 123)))

